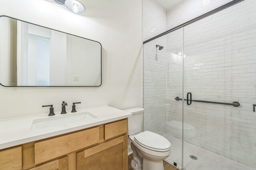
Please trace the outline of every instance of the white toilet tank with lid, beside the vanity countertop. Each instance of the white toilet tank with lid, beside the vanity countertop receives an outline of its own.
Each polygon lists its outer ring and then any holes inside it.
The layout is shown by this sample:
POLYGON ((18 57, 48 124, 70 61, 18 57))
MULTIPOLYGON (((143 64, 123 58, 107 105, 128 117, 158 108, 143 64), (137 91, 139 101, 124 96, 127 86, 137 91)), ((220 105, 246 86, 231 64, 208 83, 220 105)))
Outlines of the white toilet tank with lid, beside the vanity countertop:
POLYGON ((132 113, 132 117, 128 117, 128 135, 141 132, 144 109, 136 107, 132 109, 126 109, 124 111, 132 113))

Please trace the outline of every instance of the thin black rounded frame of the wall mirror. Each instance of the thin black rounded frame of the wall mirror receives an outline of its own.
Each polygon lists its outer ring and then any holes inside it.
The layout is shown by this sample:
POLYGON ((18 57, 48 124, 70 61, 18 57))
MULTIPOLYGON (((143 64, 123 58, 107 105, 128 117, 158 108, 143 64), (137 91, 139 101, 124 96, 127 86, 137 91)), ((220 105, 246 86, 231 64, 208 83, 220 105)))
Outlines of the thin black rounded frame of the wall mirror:
MULTIPOLYGON (((0 15, 0 18, 1 18, 1 17, 7 17, 7 18, 14 19, 14 20, 18 20, 18 21, 30 23, 30 22, 27 22, 27 21, 19 20, 19 19, 17 19, 17 18, 13 18, 13 17, 10 17, 10 16, 6 16, 6 15, 0 15)), ((34 23, 30 23, 30 24, 36 25, 36 26, 39 26, 39 27, 44 27, 44 26, 42 26, 42 25, 38 25, 38 24, 34 24, 34 23)), ((52 29, 52 28, 49 28, 49 27, 44 27, 44 28, 51 29, 51 30, 54 30, 54 31, 58 31, 58 32, 61 32, 61 33, 66 33, 66 32, 59 31, 59 30, 56 30, 56 29, 52 29)), ((66 34, 68 34, 68 35, 73 35, 73 34, 70 34, 70 33, 66 33, 66 34)), ((77 35, 73 35, 73 36, 80 37, 80 36, 77 36, 77 35)), ((84 38, 84 37, 80 37, 80 38, 87 39, 87 40, 90 40, 90 41, 94 41, 94 40, 92 40, 92 39, 88 39, 88 38, 84 38)), ((3 85, 1 82, 0 82, 0 85, 1 85, 1 86, 4 86, 4 87, 100 87, 100 86, 102 85, 102 45, 101 45, 101 43, 98 42, 98 41, 94 41, 94 42, 100 44, 100 85, 99 85, 99 86, 5 86, 5 85, 3 85)), ((1 57, 1 56, 0 56, 0 57, 1 57)))

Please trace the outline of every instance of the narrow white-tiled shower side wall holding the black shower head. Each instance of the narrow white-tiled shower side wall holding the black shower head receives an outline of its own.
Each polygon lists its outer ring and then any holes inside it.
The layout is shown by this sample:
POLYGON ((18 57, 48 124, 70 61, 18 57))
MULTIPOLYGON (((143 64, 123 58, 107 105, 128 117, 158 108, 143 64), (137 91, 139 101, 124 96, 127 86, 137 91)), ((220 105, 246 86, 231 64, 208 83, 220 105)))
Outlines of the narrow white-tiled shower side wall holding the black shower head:
MULTIPOLYGON (((166 12, 154 0, 142 0, 142 38, 150 39, 166 31, 166 12)), ((143 104, 144 130, 166 133, 166 37, 144 45, 143 104)))

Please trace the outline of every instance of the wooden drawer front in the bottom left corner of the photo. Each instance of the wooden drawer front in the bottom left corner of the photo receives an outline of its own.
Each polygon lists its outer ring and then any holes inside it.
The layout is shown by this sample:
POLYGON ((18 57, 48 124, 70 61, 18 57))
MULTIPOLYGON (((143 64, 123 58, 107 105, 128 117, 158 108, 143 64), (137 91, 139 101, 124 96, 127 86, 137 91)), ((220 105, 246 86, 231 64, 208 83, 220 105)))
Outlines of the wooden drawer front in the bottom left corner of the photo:
POLYGON ((22 169, 22 147, 0 151, 0 169, 22 169))

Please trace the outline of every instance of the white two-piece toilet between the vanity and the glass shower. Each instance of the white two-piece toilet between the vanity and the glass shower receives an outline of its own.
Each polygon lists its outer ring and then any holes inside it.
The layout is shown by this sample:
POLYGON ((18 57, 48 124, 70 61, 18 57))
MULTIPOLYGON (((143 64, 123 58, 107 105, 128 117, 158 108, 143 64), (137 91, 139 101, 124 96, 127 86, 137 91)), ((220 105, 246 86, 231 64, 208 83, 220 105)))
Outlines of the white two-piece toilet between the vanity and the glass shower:
POLYGON ((171 153, 170 142, 156 133, 142 132, 143 108, 124 111, 132 113, 132 117, 128 117, 128 135, 133 152, 132 168, 134 170, 164 170, 163 160, 171 153))

